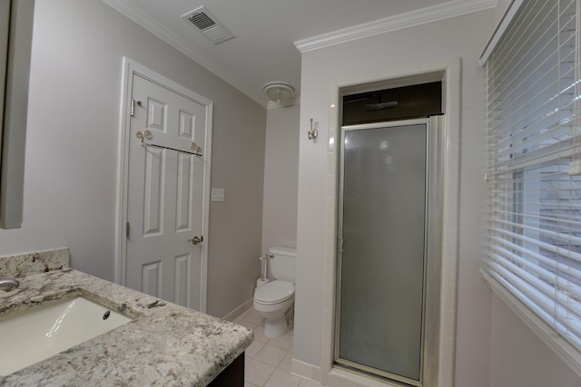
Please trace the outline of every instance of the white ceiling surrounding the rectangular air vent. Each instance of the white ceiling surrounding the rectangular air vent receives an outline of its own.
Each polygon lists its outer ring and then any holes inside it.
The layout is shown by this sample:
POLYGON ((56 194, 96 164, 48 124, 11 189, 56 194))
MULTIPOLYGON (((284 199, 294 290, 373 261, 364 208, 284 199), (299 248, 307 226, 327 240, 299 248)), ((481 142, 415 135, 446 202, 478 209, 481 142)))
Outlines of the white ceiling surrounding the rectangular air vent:
POLYGON ((300 52, 493 7, 495 0, 103 0, 268 106, 266 82, 300 94, 300 52), (236 37, 212 44, 181 16, 204 5, 236 37))

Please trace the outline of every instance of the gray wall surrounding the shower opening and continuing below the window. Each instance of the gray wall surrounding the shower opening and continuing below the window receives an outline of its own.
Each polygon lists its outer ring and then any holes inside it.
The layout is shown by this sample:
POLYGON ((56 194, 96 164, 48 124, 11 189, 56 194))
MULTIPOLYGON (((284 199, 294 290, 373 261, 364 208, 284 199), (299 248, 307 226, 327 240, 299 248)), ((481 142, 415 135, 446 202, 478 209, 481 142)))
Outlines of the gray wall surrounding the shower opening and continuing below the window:
MULTIPOLYGON (((499 6, 505 6, 502 1, 499 6)), ((306 139, 308 120, 328 127, 330 86, 367 73, 419 69, 423 63, 462 59, 459 254, 455 384, 458 387, 581 385, 565 363, 518 320, 479 273, 486 202, 484 176, 485 71, 478 56, 504 9, 424 24, 302 55, 295 359, 316 369, 329 343, 321 332, 329 166, 328 132, 306 139)), ((323 327, 322 329, 326 329, 323 327)), ((447 327, 453 332, 452 327, 447 327)), ((448 385, 448 384, 447 384, 448 385)))

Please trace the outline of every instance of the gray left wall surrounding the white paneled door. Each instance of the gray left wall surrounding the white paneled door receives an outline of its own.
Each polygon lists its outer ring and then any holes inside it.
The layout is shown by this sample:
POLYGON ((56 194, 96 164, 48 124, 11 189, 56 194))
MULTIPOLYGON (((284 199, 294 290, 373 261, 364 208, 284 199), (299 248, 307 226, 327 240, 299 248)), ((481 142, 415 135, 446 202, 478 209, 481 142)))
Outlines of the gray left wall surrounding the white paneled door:
POLYGON ((36 2, 24 222, 0 255, 70 247, 113 280, 123 55, 214 102, 208 312, 228 314, 259 271, 266 109, 100 0, 36 2))

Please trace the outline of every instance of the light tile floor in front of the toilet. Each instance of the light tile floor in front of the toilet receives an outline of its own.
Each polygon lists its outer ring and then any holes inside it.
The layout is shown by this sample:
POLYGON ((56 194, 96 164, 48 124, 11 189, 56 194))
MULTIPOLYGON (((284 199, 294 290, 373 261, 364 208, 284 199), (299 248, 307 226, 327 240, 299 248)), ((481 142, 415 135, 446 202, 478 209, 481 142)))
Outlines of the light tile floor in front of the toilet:
POLYGON ((292 329, 279 338, 269 339, 263 333, 261 315, 254 309, 234 323, 254 331, 254 343, 246 349, 245 387, 320 387, 317 382, 291 374, 292 329))

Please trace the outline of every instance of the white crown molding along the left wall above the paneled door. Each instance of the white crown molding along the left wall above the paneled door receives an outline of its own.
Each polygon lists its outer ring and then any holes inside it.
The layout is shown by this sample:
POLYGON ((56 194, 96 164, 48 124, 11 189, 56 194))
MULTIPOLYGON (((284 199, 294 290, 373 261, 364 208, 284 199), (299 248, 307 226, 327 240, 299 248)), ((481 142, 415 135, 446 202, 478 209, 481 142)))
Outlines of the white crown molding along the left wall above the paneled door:
POLYGON ((178 36, 172 34, 161 24, 156 23, 151 17, 143 14, 142 11, 135 8, 133 5, 130 5, 123 0, 103 0, 103 3, 111 6, 115 11, 125 15, 129 19, 133 20, 133 22, 141 25, 147 31, 162 39, 163 42, 172 45, 173 48, 185 54, 194 62, 200 64, 210 73, 213 73, 214 75, 221 78, 222 81, 229 83, 234 89, 237 89, 238 91, 247 95, 254 102, 257 102, 262 107, 268 107, 268 101, 264 95, 257 95, 249 91, 247 88, 241 85, 241 83, 234 81, 231 75, 224 71, 219 65, 213 63, 205 55, 195 50, 191 44, 183 42, 183 40, 178 36))

